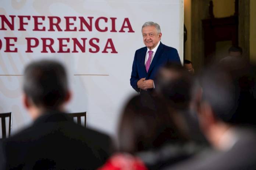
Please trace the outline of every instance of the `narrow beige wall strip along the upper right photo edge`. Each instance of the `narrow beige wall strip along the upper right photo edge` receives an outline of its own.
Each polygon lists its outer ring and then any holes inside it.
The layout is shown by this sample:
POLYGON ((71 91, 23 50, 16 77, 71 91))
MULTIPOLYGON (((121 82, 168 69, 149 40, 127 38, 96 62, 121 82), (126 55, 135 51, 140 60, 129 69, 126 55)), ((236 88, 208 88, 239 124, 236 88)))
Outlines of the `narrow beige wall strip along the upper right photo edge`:
POLYGON ((250 60, 256 62, 256 0, 250 0, 250 60))

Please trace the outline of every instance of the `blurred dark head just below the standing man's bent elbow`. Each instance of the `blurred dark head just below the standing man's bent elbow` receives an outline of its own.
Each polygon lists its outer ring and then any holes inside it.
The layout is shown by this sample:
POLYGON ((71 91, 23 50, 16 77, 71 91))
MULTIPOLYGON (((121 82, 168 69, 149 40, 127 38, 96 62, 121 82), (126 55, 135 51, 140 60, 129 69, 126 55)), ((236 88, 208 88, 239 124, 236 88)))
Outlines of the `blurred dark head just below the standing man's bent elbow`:
POLYGON ((191 101, 192 76, 174 63, 167 63, 156 76, 156 93, 177 110, 188 110, 191 101))

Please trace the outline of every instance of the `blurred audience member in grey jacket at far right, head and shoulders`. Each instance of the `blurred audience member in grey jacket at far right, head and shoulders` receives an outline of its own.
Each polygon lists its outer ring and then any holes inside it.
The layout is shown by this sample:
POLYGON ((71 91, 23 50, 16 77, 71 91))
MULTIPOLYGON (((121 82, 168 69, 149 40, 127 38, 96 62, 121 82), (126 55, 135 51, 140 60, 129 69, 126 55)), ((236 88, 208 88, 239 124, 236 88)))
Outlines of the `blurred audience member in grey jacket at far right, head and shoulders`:
POLYGON ((256 66, 223 60, 204 70, 199 82, 199 123, 213 149, 167 169, 255 170, 256 66))

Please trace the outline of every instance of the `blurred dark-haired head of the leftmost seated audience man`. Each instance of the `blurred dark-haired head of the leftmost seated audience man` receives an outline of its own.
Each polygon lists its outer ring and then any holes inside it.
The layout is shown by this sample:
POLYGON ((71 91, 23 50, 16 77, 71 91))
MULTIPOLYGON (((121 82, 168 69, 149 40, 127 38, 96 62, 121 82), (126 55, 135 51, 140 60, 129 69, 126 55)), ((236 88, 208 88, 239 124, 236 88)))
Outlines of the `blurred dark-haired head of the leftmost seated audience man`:
POLYGON ((32 112, 60 110, 70 98, 65 68, 54 60, 28 64, 24 71, 23 90, 25 107, 32 112))

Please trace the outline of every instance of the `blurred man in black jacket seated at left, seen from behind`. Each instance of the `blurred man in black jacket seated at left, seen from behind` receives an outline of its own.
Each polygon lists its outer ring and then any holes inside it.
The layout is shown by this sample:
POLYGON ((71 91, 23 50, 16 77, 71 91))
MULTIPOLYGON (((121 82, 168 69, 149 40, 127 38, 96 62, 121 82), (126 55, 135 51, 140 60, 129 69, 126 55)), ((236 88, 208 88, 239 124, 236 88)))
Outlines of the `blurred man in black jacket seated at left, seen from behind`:
POLYGON ((110 138, 74 123, 64 67, 55 61, 29 64, 23 103, 33 124, 0 144, 0 169, 95 170, 109 157, 110 138))

